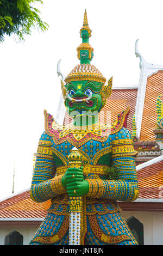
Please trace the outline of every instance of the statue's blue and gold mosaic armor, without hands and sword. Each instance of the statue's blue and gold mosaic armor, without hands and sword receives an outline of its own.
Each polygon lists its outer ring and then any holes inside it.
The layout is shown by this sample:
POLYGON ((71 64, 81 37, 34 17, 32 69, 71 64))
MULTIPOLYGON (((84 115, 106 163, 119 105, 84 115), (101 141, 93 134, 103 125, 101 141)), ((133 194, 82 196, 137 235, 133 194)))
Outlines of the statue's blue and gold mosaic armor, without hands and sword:
POLYGON ((37 149, 30 196, 35 202, 52 199, 45 220, 30 245, 68 245, 68 194, 61 178, 68 168, 73 147, 86 156, 84 179, 89 182, 85 197, 85 245, 136 245, 137 242, 121 215, 117 200, 133 201, 139 195, 133 147, 126 129, 127 111, 114 125, 94 126, 91 130, 62 129, 45 111, 45 132, 37 149), (108 168, 115 167, 116 179, 108 179, 108 168), (55 181, 55 182, 54 182, 55 181))

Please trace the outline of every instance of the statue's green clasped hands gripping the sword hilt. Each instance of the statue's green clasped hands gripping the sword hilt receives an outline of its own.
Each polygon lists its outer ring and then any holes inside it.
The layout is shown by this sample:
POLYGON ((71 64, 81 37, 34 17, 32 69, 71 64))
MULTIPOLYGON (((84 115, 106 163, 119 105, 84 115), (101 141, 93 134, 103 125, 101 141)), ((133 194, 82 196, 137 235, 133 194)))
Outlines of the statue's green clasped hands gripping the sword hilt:
POLYGON ((67 168, 62 177, 62 185, 66 188, 69 197, 81 197, 89 192, 89 183, 84 180, 83 167, 67 168))

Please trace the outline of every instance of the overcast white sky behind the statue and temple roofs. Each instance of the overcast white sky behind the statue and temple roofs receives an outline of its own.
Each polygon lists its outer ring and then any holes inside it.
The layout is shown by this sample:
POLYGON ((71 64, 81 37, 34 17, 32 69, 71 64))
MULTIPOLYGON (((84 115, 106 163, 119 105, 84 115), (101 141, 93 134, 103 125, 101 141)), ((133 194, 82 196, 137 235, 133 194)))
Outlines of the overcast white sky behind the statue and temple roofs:
MULTIPOLYGON (((139 58, 134 45, 149 63, 163 64, 162 0, 46 0, 39 5, 48 31, 33 31, 26 42, 5 37, 0 44, 1 173, 0 199, 30 187, 33 154, 44 131, 43 109, 55 115, 60 95, 57 62, 66 76, 77 64, 76 48, 84 10, 92 30, 92 64, 113 86, 138 84, 139 58)), ((123 109, 122 109, 123 110, 123 109)))

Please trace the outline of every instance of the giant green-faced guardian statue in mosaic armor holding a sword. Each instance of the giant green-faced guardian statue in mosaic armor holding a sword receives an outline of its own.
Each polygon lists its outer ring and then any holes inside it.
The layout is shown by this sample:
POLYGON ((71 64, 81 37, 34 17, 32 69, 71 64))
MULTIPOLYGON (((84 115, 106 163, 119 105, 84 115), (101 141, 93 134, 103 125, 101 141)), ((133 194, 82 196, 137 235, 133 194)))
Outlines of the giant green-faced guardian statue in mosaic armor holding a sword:
POLYGON ((137 152, 126 129, 129 109, 122 109, 113 124, 99 118, 112 77, 105 84, 91 64, 90 36, 85 10, 80 64, 61 79, 72 121, 61 126, 44 113, 30 197, 37 203, 51 199, 51 206, 30 245, 137 245, 117 204, 139 196, 137 152))

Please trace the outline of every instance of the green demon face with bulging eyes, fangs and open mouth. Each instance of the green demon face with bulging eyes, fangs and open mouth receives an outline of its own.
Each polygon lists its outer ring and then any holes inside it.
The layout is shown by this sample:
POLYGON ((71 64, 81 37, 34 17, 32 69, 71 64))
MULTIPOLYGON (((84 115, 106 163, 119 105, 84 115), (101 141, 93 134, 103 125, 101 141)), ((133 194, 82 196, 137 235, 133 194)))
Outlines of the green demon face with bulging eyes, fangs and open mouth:
POLYGON ((66 84, 65 106, 70 115, 78 112, 97 113, 102 107, 102 83, 95 81, 73 81, 66 84))

